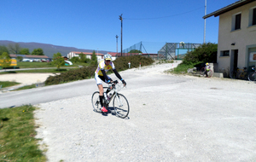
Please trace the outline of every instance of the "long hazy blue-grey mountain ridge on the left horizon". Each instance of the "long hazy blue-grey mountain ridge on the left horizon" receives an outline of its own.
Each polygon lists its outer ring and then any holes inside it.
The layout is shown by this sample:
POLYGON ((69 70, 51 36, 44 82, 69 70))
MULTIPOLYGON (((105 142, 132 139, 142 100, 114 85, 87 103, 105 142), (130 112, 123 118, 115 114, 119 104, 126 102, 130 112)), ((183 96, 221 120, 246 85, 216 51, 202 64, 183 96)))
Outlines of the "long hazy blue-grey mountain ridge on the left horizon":
MULTIPOLYGON (((77 49, 74 47, 64 47, 59 45, 53 45, 49 43, 23 43, 23 42, 13 42, 8 40, 0 40, 0 45, 4 45, 8 47, 9 43, 19 43, 21 48, 29 49, 29 52, 32 53, 33 49, 43 49, 44 55, 47 55, 49 58, 52 58, 54 54, 57 52, 60 52, 61 55, 67 56, 67 54, 71 51, 77 51, 77 52, 93 52, 92 49, 77 49)), ((101 54, 107 54, 111 51, 105 51, 105 50, 99 50, 98 51, 101 54)))

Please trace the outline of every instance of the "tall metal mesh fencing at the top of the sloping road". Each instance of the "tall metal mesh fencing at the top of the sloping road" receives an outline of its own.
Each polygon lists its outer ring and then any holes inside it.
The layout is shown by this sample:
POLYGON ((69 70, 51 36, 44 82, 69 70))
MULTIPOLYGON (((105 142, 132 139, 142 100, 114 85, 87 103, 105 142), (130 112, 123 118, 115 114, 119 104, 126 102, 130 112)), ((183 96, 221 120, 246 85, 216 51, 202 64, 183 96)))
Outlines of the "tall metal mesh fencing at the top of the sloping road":
MULTIPOLYGON (((185 54, 201 43, 148 43, 140 42, 122 51, 122 56, 143 55, 154 60, 182 60, 185 54)), ((119 53, 118 56, 121 56, 119 53)))

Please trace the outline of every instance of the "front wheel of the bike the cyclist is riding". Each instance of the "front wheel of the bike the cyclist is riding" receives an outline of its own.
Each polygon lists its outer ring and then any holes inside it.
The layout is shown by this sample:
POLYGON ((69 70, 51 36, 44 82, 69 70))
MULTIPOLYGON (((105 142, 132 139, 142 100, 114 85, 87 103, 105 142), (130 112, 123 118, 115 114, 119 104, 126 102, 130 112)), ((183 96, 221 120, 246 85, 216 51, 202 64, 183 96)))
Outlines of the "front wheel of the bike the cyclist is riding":
POLYGON ((113 98, 113 108, 115 114, 124 119, 130 112, 130 107, 125 95, 116 94, 113 98))

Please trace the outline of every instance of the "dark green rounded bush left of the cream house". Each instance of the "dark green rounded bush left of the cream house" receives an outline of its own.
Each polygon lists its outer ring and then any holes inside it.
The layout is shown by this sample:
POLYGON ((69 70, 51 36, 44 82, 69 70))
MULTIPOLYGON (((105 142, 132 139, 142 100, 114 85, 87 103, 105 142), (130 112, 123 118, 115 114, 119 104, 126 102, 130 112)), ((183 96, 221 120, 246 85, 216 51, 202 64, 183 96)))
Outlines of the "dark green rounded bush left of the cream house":
POLYGON ((200 62, 216 62, 218 44, 203 43, 193 51, 189 51, 183 58, 183 64, 195 64, 200 62))

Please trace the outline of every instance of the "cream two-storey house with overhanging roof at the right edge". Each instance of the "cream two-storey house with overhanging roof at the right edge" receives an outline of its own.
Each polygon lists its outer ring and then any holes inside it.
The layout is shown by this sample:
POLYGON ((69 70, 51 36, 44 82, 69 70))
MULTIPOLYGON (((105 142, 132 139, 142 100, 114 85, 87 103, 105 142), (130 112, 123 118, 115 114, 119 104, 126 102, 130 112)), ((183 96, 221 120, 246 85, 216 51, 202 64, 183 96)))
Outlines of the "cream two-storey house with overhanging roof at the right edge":
POLYGON ((236 67, 256 63, 256 1, 240 0, 207 14, 203 19, 219 16, 218 58, 216 72, 229 72, 236 67))

